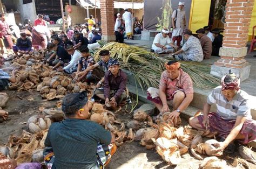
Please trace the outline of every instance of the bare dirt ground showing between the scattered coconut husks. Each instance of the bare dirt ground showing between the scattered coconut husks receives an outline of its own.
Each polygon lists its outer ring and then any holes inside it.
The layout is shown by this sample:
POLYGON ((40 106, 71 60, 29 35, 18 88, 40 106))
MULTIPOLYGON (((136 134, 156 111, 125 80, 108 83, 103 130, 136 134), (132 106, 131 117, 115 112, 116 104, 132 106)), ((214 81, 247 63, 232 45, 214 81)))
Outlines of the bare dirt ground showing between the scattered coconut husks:
MULTIPOLYGON (((23 123, 26 122, 30 116, 38 114, 39 107, 55 108, 56 102, 58 101, 42 100, 42 97, 36 91, 30 93, 28 91, 18 92, 8 90, 6 93, 9 96, 9 101, 4 110, 19 113, 9 115, 8 120, 0 124, 0 145, 7 143, 11 134, 20 135, 22 130, 26 130, 26 124, 23 123)), ((142 102, 139 102, 137 107, 142 104, 142 102)), ((131 107, 132 105, 130 104, 127 110, 130 110, 131 107)), ((124 111, 117 112, 116 116, 123 122, 129 122, 132 119, 132 114, 125 113, 124 111)), ((182 120, 183 125, 186 125, 187 119, 182 118, 182 120)), ((238 152, 231 155, 224 153, 220 158, 225 159, 228 164, 232 164, 234 157, 239 157, 238 152)), ((177 166, 169 166, 161 159, 155 150, 146 150, 145 147, 139 145, 139 142, 134 141, 118 147, 117 152, 106 168, 198 168, 199 164, 200 161, 195 159, 191 153, 188 152, 183 155, 180 164, 177 166)), ((256 165, 252 163, 249 164, 251 168, 256 168, 256 165)))

